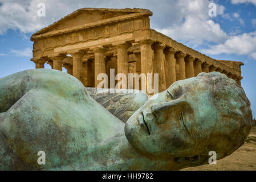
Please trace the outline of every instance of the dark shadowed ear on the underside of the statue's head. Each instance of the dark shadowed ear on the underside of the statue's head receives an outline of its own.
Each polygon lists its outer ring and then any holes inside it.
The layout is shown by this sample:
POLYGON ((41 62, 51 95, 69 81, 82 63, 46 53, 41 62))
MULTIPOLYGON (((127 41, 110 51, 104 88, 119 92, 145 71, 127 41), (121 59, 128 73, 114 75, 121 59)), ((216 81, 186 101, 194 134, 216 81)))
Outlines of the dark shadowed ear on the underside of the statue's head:
POLYGON ((184 166, 200 166, 208 160, 207 155, 195 155, 193 157, 178 157, 174 159, 176 163, 184 166))

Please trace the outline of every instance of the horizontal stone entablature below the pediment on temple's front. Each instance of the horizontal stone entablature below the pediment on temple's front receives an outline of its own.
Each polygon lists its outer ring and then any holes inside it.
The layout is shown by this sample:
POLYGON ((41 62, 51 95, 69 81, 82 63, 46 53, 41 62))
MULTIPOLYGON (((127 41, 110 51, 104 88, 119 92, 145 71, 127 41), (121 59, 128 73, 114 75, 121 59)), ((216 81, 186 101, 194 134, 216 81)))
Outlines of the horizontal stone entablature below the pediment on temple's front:
MULTIPOLYGON (((75 11, 74 14, 78 14, 80 11, 108 11, 109 9, 80 9, 75 11)), ((111 9, 110 9, 111 10, 111 9)), ((91 22, 75 27, 63 28, 62 30, 51 30, 51 27, 60 24, 64 19, 70 18, 71 15, 60 19, 58 22, 52 24, 47 28, 36 32, 31 36, 31 40, 34 41, 33 45, 33 57, 47 56, 54 53, 54 48, 63 47, 67 45, 74 45, 83 42, 90 42, 91 40, 97 40, 100 38, 109 38, 118 36, 127 32, 140 30, 149 26, 148 16, 152 15, 149 10, 137 10, 124 12, 130 12, 131 14, 120 15, 117 17, 98 20, 97 22, 91 22)), ((113 11, 113 10, 111 10, 113 11)), ((114 9, 114 11, 116 11, 114 9)), ((72 16, 71 16, 72 17, 72 16)))

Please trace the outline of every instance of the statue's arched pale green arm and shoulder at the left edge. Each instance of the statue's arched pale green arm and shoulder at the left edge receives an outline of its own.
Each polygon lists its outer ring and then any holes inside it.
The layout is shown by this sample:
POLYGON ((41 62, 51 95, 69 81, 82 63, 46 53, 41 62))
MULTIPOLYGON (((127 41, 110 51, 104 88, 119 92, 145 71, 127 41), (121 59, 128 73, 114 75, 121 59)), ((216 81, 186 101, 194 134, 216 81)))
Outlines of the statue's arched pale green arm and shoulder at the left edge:
POLYGON ((74 100, 84 98, 83 84, 75 77, 51 69, 30 69, 0 78, 0 113, 6 112, 30 90, 46 90, 74 100))

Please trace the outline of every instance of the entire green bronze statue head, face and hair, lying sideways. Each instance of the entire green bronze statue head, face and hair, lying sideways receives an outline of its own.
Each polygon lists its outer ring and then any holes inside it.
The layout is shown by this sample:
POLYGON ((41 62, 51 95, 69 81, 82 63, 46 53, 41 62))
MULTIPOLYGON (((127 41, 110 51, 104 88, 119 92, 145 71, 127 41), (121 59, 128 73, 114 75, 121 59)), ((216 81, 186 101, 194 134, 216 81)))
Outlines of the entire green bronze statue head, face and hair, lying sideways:
POLYGON ((200 73, 151 97, 129 118, 125 135, 144 155, 198 166, 208 162, 209 151, 222 159, 242 146, 251 119, 241 86, 218 72, 200 73))

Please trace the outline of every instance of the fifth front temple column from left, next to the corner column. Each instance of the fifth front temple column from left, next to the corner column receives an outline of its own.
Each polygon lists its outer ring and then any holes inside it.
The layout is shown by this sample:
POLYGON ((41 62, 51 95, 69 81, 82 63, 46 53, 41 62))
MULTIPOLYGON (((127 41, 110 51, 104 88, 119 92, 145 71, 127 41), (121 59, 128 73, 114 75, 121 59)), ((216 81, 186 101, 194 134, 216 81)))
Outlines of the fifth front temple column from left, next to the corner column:
MULTIPOLYGON (((117 44, 117 73, 123 73, 128 79, 129 67, 128 67, 128 52, 127 49, 131 47, 131 44, 121 43, 117 44)), ((117 77, 119 80, 119 77, 117 77)), ((128 80, 127 80, 128 84, 128 80)))

